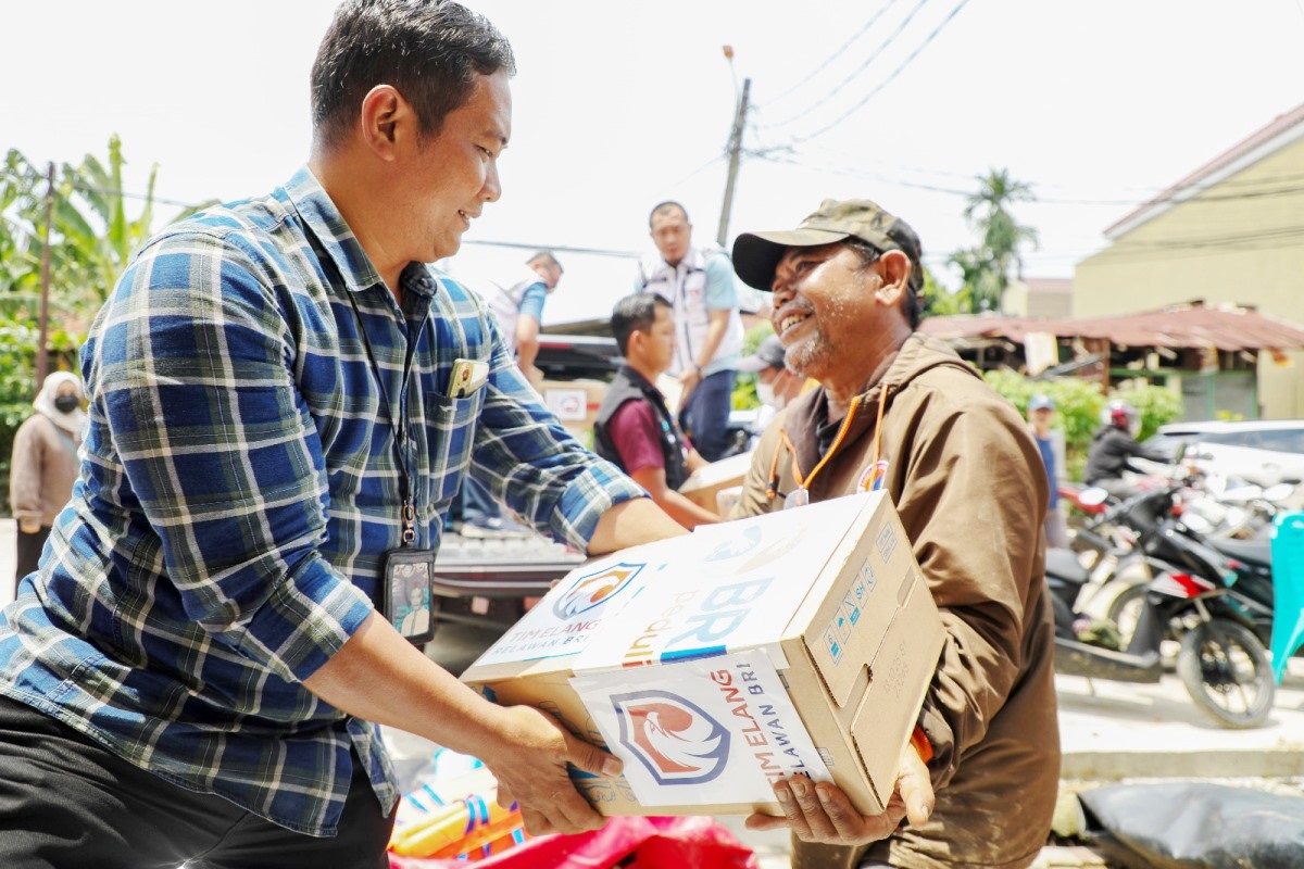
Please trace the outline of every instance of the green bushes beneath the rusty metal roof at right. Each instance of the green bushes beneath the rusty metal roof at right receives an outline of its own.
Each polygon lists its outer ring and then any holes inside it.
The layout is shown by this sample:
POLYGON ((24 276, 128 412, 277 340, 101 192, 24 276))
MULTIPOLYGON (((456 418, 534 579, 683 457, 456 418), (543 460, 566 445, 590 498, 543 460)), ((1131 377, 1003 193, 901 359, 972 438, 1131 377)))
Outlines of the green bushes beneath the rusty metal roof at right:
POLYGON ((1067 453, 1064 473, 1069 479, 1082 478, 1091 435, 1099 430, 1102 425, 1101 410, 1108 401, 1121 399, 1137 409, 1141 414, 1141 434, 1138 435, 1141 440, 1154 434, 1159 426, 1181 417, 1181 396, 1161 386, 1128 388, 1106 396, 1101 393, 1099 384, 1080 378, 1030 380, 1009 369, 987 371, 983 378, 996 392, 1009 399, 1025 418, 1028 417, 1028 401, 1034 395, 1045 393, 1051 397, 1051 401, 1055 403, 1054 426, 1064 430, 1067 453))

